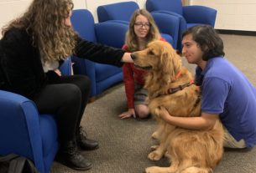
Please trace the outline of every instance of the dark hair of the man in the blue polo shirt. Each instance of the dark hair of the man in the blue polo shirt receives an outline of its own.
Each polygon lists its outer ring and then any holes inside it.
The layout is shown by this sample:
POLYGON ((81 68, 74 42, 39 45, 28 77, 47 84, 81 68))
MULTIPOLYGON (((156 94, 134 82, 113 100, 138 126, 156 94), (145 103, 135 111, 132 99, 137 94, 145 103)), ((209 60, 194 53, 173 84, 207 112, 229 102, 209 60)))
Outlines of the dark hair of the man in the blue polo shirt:
POLYGON ((182 38, 188 34, 191 34, 192 39, 200 46, 203 52, 203 60, 207 61, 208 59, 225 55, 222 38, 219 37, 212 26, 196 25, 188 28, 182 33, 182 38))

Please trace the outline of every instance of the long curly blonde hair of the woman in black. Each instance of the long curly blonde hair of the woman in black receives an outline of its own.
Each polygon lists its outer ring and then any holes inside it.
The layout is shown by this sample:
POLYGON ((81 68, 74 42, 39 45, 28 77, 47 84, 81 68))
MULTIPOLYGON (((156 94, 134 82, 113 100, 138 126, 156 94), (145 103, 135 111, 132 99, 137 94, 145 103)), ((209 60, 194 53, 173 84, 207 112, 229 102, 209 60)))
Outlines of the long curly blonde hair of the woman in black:
POLYGON ((65 26, 65 18, 73 7, 71 0, 34 0, 27 12, 4 27, 2 33, 24 28, 32 35, 44 62, 66 59, 76 47, 76 32, 65 26))

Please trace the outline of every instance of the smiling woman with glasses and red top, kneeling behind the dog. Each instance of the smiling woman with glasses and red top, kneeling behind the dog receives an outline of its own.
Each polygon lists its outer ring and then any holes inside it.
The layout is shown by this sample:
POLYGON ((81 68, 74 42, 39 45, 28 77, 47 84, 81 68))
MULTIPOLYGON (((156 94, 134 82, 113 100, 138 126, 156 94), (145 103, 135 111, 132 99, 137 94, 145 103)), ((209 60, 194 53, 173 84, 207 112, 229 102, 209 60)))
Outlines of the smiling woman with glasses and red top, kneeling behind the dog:
MULTIPOLYGON (((138 9, 133 13, 126 34, 123 49, 127 52, 143 50, 147 44, 161 38, 159 29, 154 23, 154 18, 146 9, 138 9)), ((128 110, 119 114, 121 119, 137 117, 144 119, 149 117, 149 108, 145 102, 148 92, 144 89, 144 77, 146 71, 136 69, 134 64, 123 64, 123 82, 128 102, 128 110)))

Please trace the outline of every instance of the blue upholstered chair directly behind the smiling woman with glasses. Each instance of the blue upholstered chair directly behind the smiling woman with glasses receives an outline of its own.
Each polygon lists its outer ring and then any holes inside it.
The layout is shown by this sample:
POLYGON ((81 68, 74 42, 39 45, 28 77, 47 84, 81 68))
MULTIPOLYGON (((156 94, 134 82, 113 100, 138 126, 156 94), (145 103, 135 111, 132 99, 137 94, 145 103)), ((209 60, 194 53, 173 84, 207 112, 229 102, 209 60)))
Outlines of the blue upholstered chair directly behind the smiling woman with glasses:
MULTIPOLYGON (((97 8, 98 20, 100 23, 106 21, 123 21, 123 23, 127 23, 128 25, 133 12, 138 8, 138 4, 133 1, 102 5, 97 8)), ((166 41, 168 41, 174 48, 176 48, 180 20, 166 14, 151 14, 162 37, 165 38, 166 41)))

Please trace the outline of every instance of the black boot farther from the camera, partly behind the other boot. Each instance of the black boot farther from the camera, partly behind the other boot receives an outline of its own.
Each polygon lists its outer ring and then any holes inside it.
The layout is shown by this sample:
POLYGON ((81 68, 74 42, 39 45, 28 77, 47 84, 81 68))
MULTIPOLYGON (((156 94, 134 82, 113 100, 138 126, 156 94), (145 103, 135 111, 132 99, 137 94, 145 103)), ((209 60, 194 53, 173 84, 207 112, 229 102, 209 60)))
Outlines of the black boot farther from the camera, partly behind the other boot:
POLYGON ((86 138, 86 132, 82 130, 81 126, 79 126, 79 129, 76 131, 76 141, 81 150, 96 150, 99 148, 99 144, 96 140, 86 138))

